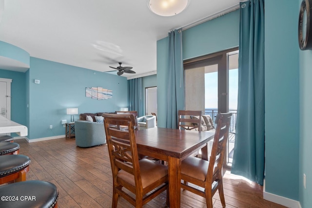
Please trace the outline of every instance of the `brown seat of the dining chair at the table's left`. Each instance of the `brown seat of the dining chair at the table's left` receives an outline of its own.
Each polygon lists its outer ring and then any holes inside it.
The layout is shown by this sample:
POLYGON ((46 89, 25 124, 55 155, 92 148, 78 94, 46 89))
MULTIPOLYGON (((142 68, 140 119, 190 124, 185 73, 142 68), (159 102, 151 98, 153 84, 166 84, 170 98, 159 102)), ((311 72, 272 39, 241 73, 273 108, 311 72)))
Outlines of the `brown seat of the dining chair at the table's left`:
MULTIPOLYGON (((141 159, 139 160, 139 164, 143 189, 158 181, 159 178, 163 178, 168 175, 167 166, 153 162, 149 159, 141 159)), ((120 170, 118 172, 117 178, 120 178, 132 186, 135 186, 134 176, 124 170, 120 170)))

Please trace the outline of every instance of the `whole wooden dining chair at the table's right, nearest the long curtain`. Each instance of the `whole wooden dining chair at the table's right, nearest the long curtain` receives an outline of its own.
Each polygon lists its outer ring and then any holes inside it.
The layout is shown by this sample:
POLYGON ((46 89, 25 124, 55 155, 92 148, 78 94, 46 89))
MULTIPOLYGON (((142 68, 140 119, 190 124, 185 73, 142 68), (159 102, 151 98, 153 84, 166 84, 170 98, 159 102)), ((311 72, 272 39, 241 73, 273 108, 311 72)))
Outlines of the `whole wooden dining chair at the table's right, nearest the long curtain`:
POLYGON ((206 198, 207 208, 213 208, 213 196, 218 190, 222 207, 225 199, 222 184, 222 167, 229 137, 232 113, 219 113, 216 117, 216 130, 210 160, 187 157, 181 163, 181 188, 206 198), (186 182, 186 183, 185 183, 186 182), (204 188, 204 191, 189 183, 204 188))

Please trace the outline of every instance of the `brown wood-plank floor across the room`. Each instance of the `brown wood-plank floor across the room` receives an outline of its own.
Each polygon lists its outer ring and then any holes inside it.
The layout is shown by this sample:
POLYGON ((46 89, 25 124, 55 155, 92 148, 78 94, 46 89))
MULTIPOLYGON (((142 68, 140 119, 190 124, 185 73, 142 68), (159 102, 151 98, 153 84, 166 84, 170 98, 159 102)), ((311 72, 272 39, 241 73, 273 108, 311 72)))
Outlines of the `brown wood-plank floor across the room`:
MULTIPOLYGON (((31 158, 27 180, 44 180, 59 189, 59 208, 109 208, 112 202, 112 173, 106 145, 79 148, 75 138, 61 138, 20 144, 20 154, 31 158)), ((224 176, 227 208, 284 208, 263 199, 262 187, 235 177, 224 176)), ((182 208, 205 208, 204 198, 181 190, 182 208)), ((165 207, 166 193, 145 205, 145 208, 165 207)), ((119 197, 118 208, 131 205, 119 197)), ((219 195, 214 196, 214 208, 222 208, 219 195)))

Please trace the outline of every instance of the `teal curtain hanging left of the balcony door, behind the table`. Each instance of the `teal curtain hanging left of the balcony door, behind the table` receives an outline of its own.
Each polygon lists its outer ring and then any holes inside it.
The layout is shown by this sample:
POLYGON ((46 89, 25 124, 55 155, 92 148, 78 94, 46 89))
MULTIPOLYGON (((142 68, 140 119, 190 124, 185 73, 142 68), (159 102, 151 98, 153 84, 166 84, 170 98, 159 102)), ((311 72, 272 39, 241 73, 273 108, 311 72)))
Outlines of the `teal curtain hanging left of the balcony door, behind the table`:
POLYGON ((169 37, 168 91, 166 128, 177 128, 177 112, 184 110, 184 71, 182 29, 171 31, 169 37))

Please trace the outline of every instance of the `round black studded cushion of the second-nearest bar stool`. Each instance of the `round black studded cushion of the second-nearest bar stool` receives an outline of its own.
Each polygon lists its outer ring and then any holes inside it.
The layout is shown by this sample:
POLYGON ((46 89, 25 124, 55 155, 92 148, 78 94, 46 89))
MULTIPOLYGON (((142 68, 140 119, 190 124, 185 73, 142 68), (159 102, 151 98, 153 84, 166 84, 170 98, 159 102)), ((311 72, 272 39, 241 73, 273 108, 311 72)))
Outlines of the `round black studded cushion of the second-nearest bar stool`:
POLYGON ((31 160, 22 154, 8 154, 0 156, 0 177, 18 172, 29 166, 31 160))

